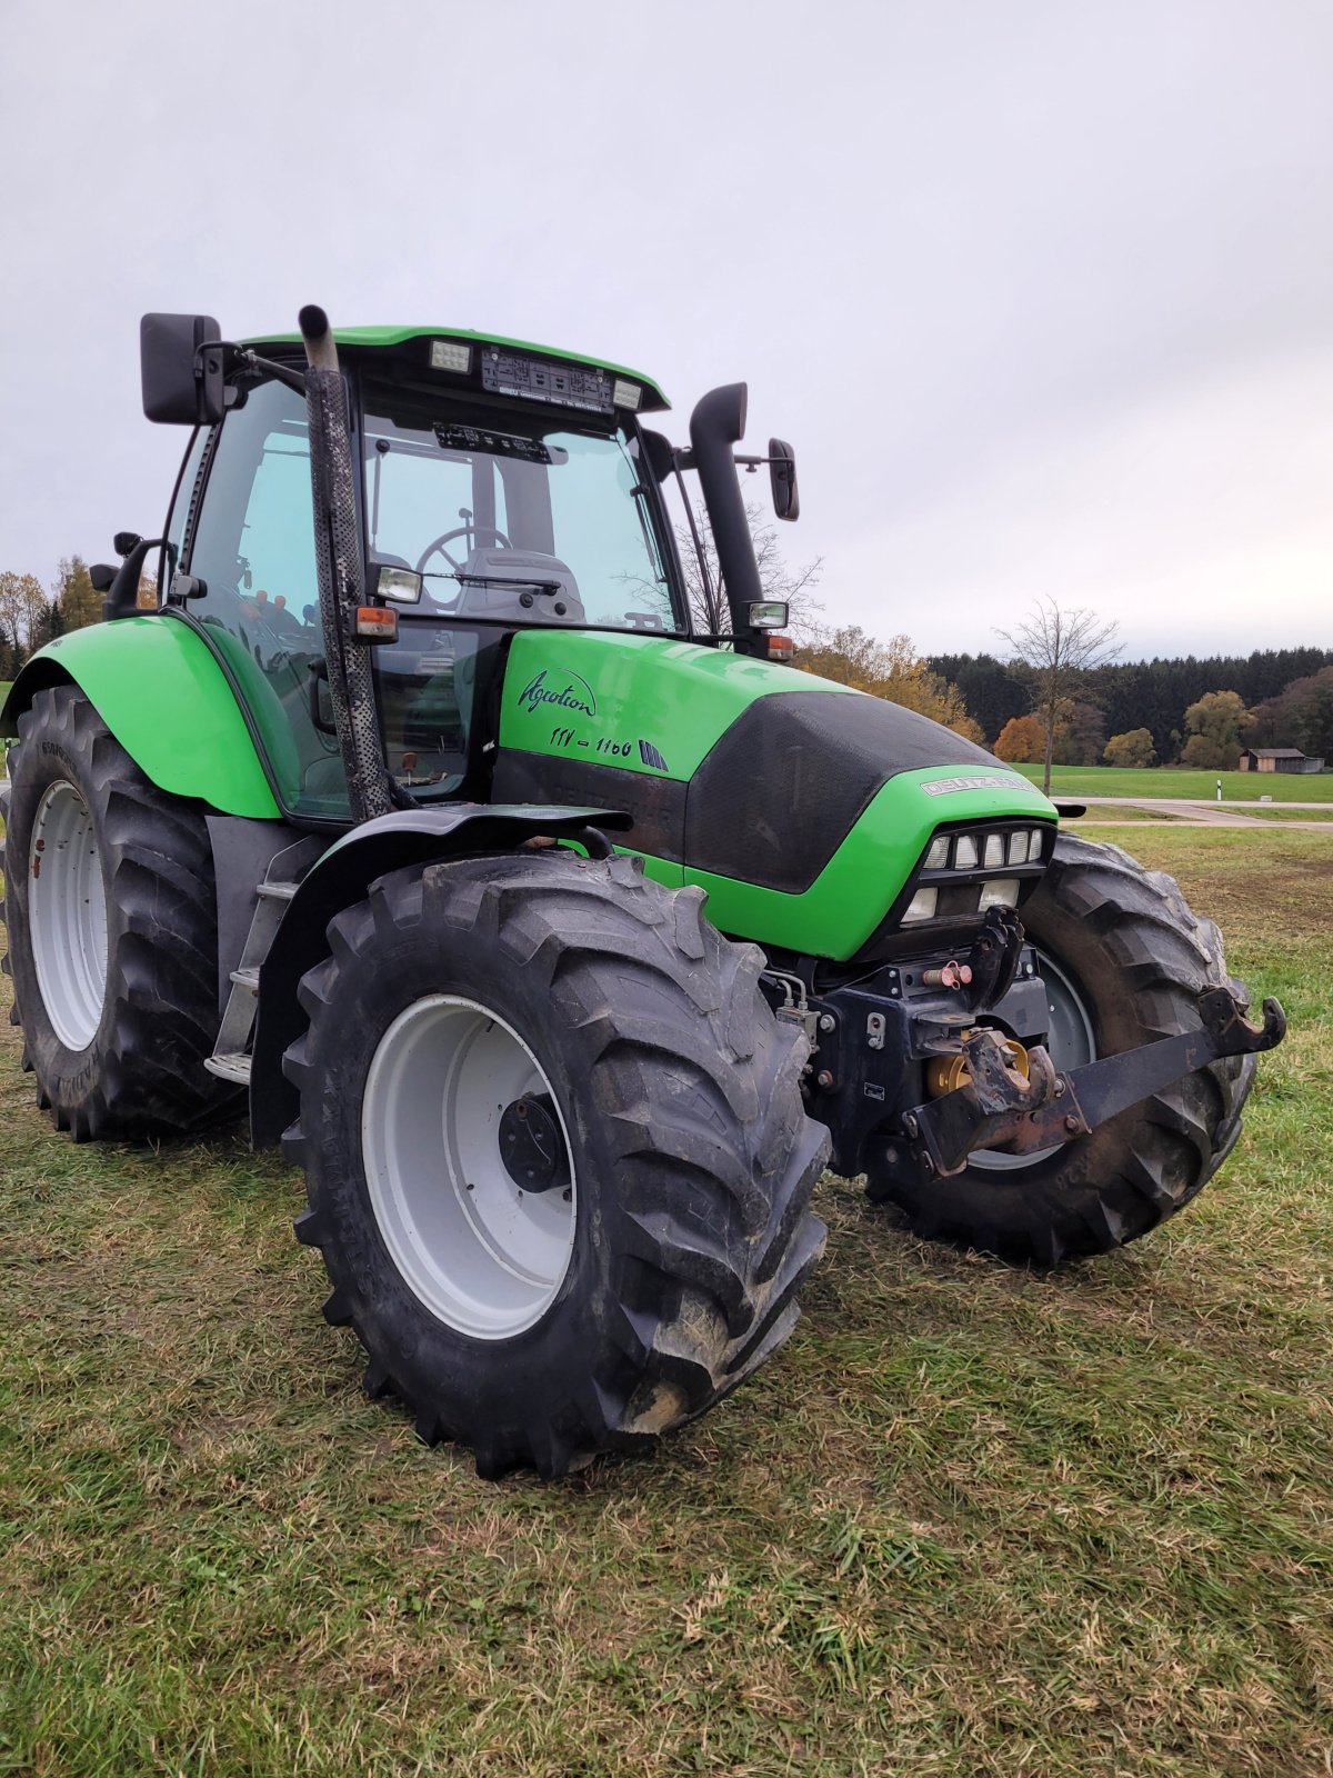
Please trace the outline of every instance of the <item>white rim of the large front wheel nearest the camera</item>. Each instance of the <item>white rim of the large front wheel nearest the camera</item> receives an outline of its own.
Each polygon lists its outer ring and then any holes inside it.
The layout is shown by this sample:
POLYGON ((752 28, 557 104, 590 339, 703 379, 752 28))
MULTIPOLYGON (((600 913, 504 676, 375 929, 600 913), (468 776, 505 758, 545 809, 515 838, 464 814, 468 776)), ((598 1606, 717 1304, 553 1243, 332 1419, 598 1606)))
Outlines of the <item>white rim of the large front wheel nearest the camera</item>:
MULTIPOLYGON (((540 1321, 574 1252, 572 1165, 567 1186, 521 1191, 501 1159, 501 1115, 533 1093, 555 1102, 517 1031, 453 994, 400 1012, 366 1076, 361 1152, 384 1245, 425 1307, 473 1339, 540 1321)), ((572 1154, 558 1102, 556 1117, 572 1154)))

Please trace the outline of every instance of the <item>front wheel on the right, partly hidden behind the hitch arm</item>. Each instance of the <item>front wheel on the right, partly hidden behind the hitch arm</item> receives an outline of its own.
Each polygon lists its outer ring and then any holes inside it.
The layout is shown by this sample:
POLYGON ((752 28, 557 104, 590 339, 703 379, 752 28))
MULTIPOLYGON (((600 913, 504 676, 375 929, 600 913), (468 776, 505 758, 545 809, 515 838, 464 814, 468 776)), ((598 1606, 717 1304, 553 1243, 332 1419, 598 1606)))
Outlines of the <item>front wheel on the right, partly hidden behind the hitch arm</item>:
MULTIPOLYGON (((1118 846, 1061 834, 1022 921, 1058 1069, 1196 1029, 1203 989, 1226 985, 1246 1003, 1212 921, 1118 846)), ((1253 1074, 1253 1056, 1214 1061, 1045 1154, 981 1152, 962 1173, 910 1188, 869 1170, 867 1189, 928 1239, 1040 1266, 1106 1253, 1175 1216, 1221 1166, 1253 1074)))

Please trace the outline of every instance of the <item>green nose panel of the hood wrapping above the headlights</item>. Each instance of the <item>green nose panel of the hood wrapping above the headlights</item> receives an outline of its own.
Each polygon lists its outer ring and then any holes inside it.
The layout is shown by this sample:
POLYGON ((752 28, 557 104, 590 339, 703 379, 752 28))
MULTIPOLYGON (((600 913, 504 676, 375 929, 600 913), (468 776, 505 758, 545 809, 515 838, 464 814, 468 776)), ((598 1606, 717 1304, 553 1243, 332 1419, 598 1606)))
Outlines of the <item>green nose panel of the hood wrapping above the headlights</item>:
POLYGON ((722 932, 842 962, 857 955, 889 912, 937 827, 1013 816, 1054 821, 1056 809, 1017 772, 969 772, 965 766, 899 772, 871 800, 803 894, 759 889, 688 866, 684 880, 707 889, 707 917, 722 932), (997 782, 944 797, 922 789, 922 784, 954 775, 994 777, 997 782))

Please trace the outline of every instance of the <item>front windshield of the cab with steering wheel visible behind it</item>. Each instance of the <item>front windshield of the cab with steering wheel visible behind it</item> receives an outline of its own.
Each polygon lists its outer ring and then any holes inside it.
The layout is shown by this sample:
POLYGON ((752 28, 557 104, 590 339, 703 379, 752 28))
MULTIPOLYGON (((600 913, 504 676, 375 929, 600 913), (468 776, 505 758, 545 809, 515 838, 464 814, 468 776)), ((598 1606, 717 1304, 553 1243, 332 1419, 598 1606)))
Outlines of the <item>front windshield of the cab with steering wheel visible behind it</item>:
POLYGON ((686 631, 640 450, 606 421, 366 389, 368 585, 380 567, 421 576, 398 640, 373 651, 403 788, 459 791, 515 626, 686 631))

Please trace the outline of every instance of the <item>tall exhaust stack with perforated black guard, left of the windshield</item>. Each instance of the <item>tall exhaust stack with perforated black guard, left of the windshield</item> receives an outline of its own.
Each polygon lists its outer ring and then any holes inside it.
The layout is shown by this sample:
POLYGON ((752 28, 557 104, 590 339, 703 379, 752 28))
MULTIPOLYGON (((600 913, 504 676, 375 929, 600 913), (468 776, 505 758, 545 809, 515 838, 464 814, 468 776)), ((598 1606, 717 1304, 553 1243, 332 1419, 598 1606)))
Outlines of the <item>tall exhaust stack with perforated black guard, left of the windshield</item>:
POLYGON ((387 814, 396 798, 380 745, 370 649, 354 638, 355 608, 363 601, 363 589, 347 389, 338 370, 338 347, 329 329, 329 316, 311 302, 297 322, 309 361, 306 412, 323 658, 352 818, 368 821, 377 814, 387 814))

